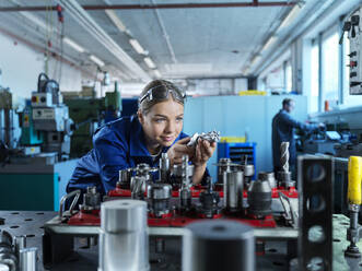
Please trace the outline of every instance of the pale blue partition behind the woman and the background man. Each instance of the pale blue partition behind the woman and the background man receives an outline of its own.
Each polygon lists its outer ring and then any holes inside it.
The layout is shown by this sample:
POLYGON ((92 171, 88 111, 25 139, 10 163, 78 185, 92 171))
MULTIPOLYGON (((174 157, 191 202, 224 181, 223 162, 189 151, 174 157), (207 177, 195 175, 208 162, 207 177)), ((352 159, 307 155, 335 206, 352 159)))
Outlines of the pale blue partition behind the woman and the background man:
MULTIPOLYGON (((304 121, 307 99, 300 95, 282 96, 207 96, 188 98, 185 106, 184 132, 218 130, 222 137, 247 136, 256 142, 257 170, 272 169, 271 120, 281 108, 282 99, 292 97, 296 108, 292 114, 304 121)), ((217 153, 209 161, 212 179, 217 178, 217 153)))

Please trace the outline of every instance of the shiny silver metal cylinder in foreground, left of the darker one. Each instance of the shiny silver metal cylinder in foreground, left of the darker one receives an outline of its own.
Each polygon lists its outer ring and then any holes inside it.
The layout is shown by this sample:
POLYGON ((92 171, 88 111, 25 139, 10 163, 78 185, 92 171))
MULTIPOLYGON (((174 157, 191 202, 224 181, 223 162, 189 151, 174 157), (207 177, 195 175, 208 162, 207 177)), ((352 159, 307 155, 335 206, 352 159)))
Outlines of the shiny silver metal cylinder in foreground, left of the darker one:
POLYGON ((98 271, 147 271, 147 203, 113 200, 101 205, 98 271))

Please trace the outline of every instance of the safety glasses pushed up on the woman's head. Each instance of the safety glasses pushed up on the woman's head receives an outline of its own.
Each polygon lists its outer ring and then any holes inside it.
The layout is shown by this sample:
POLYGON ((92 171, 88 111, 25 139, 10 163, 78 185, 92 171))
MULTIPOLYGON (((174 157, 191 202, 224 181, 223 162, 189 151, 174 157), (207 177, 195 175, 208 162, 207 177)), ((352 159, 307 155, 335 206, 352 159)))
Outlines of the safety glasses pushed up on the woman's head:
POLYGON ((139 98, 139 104, 141 104, 144 99, 148 99, 149 102, 168 99, 170 93, 174 99, 184 104, 184 99, 186 97, 184 92, 178 89, 167 89, 167 86, 164 85, 156 85, 150 89, 142 97, 139 98))

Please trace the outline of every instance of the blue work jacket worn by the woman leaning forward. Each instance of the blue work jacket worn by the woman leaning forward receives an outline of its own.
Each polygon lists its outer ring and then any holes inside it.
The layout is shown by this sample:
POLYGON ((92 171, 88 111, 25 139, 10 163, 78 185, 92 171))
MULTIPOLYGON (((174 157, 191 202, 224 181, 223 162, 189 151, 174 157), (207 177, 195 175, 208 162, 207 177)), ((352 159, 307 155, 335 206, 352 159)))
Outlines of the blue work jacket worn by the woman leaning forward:
MULTIPOLYGON (((182 132, 175 142, 186 137, 182 132)), ((163 148, 162 152, 168 149, 163 148)), ((140 163, 159 166, 159 160, 153 161, 145 146, 143 129, 137 116, 108 122, 95 131, 93 149, 78 162, 67 192, 75 189, 84 192, 86 187, 96 186, 97 191, 105 195, 116 187, 120 169, 136 167, 140 163)))

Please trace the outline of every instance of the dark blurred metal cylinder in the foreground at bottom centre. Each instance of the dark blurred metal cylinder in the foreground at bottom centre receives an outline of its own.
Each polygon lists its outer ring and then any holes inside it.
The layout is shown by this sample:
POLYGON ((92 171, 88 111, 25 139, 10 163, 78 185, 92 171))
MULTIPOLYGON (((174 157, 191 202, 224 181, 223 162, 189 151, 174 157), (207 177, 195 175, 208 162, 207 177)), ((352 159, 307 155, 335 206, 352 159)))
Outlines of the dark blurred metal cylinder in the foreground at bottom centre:
POLYGON ((253 228, 233 221, 189 224, 183 237, 183 271, 254 271, 253 228))

